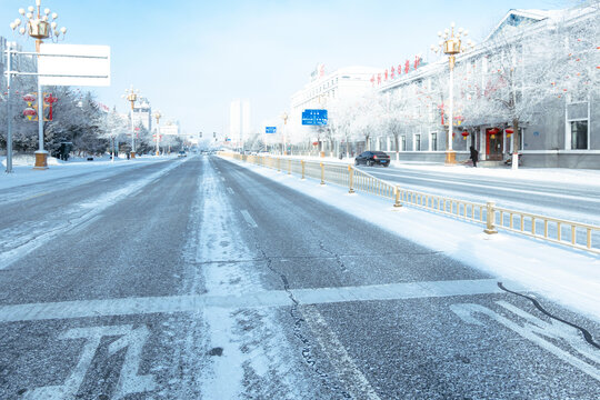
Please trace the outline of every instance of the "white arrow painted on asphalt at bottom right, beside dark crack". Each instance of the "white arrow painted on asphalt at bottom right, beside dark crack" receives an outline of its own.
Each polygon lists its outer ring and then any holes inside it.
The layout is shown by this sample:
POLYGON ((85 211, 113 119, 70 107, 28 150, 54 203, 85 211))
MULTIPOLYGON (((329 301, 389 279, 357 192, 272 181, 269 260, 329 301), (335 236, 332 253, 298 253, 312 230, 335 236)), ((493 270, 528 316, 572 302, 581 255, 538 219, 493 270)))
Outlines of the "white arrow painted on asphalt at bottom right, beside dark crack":
MULTIPOLYGON (((514 312, 514 310, 518 310, 513 306, 504 302, 504 301, 497 301, 497 304, 503 307, 506 310, 514 312)), ((521 337, 528 339, 529 341, 536 343, 540 348, 544 349, 548 352, 551 352, 562 361, 570 363, 574 368, 579 369, 581 372, 584 372, 589 374, 590 377, 594 378, 596 380, 600 381, 600 371, 598 368, 584 362, 583 360, 580 360, 572 356, 571 353, 562 350, 558 346, 553 344, 552 342, 541 338, 539 334, 546 336, 550 339, 563 339, 568 343, 573 342, 572 336, 573 332, 567 332, 566 328, 563 327, 557 327, 552 323, 548 323, 543 320, 540 320, 531 314, 528 314, 527 312, 519 310, 516 312, 518 316, 523 317, 527 314, 527 320, 530 321, 530 323, 523 323, 521 327, 520 324, 511 321, 507 317, 487 308, 480 304, 473 304, 473 303, 462 303, 462 304, 451 304, 450 309, 464 322, 478 324, 478 326, 484 326, 484 323, 479 320, 476 314, 483 314, 488 316, 491 320, 494 320, 508 329, 517 332, 521 337)), ((574 328, 571 328, 574 329, 574 328)), ((581 340, 579 340, 580 343, 583 343, 581 340)), ((579 349, 578 352, 582 353, 583 356, 588 357, 589 359, 598 362, 598 359, 593 356, 591 348, 589 349, 582 349, 581 346, 578 346, 579 349), (588 351, 586 351, 588 350, 588 351)))

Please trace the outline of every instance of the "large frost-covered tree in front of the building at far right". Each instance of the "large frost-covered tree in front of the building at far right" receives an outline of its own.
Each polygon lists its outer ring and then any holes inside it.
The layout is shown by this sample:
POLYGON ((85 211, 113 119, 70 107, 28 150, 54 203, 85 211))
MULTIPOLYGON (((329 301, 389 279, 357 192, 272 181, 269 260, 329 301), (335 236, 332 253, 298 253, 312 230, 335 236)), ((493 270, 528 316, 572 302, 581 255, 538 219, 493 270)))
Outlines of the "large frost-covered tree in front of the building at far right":
POLYGON ((586 98, 597 90, 599 22, 598 9, 583 7, 536 29, 497 34, 484 44, 486 56, 467 66, 466 122, 511 127, 516 161, 523 124, 558 112, 567 94, 586 98))

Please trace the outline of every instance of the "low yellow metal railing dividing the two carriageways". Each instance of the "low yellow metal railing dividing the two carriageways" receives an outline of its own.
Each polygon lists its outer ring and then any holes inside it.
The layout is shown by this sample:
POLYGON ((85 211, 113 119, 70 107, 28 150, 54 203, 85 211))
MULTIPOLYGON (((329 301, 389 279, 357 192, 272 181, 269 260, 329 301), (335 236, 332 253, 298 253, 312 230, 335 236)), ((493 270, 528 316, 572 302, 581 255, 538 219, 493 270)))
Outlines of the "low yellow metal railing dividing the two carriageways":
POLYGON ((366 192, 393 200, 394 207, 409 204, 486 226, 486 233, 497 233, 497 229, 526 234, 556 244, 600 254, 600 227, 533 214, 518 210, 496 207, 493 201, 476 203, 414 190, 402 189, 352 166, 304 161, 279 157, 246 156, 220 152, 240 161, 276 169, 289 174, 336 183, 348 188, 349 193, 366 192))

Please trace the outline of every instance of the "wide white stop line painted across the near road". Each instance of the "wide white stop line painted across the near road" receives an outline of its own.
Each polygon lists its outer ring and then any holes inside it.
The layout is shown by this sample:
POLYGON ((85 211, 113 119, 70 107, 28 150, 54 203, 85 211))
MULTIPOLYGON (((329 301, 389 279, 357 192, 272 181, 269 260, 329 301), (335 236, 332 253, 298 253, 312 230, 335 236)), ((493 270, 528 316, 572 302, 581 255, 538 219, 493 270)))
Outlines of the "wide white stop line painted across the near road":
MULTIPOLYGON (((519 288, 514 282, 512 287, 519 288)), ((300 304, 368 300, 406 300, 503 293, 494 279, 439 282, 389 283, 364 287, 292 289, 300 304)), ((262 308, 291 306, 284 290, 227 296, 190 294, 170 297, 79 300, 0 307, 0 322, 39 321, 109 316, 196 312, 204 308, 262 308)))

